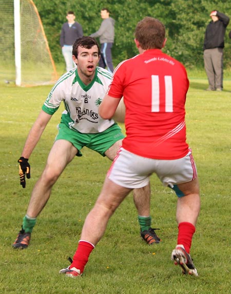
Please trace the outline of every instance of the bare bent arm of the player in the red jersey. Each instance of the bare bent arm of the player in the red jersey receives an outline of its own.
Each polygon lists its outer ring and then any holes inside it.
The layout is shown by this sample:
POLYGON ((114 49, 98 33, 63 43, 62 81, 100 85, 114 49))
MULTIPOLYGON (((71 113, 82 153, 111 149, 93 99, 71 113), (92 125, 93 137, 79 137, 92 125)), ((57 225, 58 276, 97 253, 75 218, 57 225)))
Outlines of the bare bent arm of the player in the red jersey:
POLYGON ((110 120, 114 115, 115 110, 120 103, 121 98, 114 98, 109 95, 105 95, 101 105, 99 106, 99 114, 104 120, 110 120))

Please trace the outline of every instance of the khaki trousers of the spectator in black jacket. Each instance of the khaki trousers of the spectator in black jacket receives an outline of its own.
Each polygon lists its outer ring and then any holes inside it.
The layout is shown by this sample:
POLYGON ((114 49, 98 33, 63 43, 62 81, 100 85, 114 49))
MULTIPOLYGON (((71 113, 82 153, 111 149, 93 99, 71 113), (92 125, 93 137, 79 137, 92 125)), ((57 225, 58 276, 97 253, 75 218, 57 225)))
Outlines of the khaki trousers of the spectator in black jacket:
POLYGON ((211 90, 223 89, 223 49, 204 50, 204 68, 211 90))

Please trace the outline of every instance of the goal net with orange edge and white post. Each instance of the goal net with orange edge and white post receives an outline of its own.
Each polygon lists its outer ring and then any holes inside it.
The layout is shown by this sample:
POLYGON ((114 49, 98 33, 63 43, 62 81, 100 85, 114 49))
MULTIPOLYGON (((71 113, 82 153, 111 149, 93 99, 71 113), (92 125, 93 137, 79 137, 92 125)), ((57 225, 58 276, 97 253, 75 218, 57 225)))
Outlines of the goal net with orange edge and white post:
POLYGON ((21 86, 54 83, 57 72, 33 1, 0 0, 0 15, 0 79, 5 83, 16 79, 21 86), (16 26, 15 2, 20 8, 16 26))

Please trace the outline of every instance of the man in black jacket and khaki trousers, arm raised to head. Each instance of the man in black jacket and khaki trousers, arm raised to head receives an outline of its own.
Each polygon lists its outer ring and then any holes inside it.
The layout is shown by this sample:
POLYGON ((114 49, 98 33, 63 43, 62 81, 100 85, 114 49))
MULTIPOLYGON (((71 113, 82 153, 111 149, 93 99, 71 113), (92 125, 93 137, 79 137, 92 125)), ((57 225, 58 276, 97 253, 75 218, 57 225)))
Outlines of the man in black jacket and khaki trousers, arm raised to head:
POLYGON ((214 10, 210 13, 212 21, 207 25, 204 36, 204 67, 208 77, 209 91, 223 89, 223 48, 224 35, 229 17, 214 10))

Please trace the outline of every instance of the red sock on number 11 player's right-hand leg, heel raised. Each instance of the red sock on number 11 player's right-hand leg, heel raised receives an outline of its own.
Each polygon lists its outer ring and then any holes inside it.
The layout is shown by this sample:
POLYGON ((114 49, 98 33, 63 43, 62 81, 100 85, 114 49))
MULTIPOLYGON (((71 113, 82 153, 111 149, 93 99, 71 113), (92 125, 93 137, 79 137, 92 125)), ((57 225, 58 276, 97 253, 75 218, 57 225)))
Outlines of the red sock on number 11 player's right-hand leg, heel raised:
POLYGON ((192 240, 192 236, 194 236, 195 231, 196 231, 196 228, 191 223, 182 222, 178 225, 177 244, 184 245, 184 249, 186 250, 187 253, 190 252, 191 240, 192 240))

